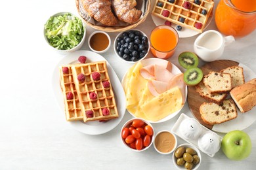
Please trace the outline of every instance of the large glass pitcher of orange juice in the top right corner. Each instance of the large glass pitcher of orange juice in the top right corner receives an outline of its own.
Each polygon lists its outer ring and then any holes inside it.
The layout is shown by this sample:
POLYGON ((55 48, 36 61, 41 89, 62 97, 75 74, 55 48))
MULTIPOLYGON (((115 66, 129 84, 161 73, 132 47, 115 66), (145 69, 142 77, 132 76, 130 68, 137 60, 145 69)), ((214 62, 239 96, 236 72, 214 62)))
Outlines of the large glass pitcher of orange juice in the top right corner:
POLYGON ((249 35, 256 29, 256 1, 221 0, 215 11, 215 23, 224 35, 249 35))

